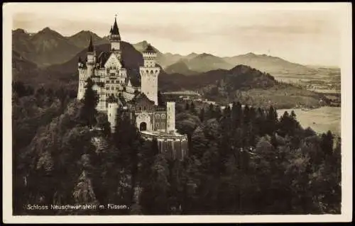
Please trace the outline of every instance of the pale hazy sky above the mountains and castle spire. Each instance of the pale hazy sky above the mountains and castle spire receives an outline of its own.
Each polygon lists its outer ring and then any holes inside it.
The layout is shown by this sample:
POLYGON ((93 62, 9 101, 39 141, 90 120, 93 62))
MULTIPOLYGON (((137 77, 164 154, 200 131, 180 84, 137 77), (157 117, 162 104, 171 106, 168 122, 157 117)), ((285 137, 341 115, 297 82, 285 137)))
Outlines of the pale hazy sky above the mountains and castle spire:
POLYGON ((220 57, 267 54, 301 64, 339 65, 337 4, 30 3, 13 5, 13 29, 108 35, 118 14, 122 40, 161 52, 220 57))

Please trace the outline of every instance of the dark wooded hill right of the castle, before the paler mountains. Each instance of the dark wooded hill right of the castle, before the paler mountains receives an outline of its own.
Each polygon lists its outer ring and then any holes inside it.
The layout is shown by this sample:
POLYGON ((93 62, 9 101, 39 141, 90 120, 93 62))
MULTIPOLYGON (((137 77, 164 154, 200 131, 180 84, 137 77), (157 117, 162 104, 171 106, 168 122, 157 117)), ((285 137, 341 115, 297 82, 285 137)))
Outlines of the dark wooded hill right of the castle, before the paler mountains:
POLYGON ((285 84, 271 74, 245 65, 190 76, 161 73, 158 79, 162 91, 199 91, 205 98, 219 103, 241 101, 254 106, 293 108, 296 105, 317 107, 329 102, 323 94, 285 84))

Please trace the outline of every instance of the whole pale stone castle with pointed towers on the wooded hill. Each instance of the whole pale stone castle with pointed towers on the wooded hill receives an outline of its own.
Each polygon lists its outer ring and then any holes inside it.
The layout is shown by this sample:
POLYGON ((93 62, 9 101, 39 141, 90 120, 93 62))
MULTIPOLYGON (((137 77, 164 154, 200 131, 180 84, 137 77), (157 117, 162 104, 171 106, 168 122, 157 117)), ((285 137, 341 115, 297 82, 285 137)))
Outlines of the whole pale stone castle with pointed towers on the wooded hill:
POLYGON ((175 130, 175 102, 158 106, 157 53, 151 45, 143 50, 143 65, 139 67, 140 82, 133 82, 124 67, 121 35, 116 18, 109 32, 110 50, 97 53, 92 38, 87 49, 87 60, 79 59, 79 87, 77 98, 84 98, 87 79, 94 81, 92 89, 99 95, 97 111, 107 113, 111 131, 114 132, 118 111, 123 110, 135 121, 141 136, 158 140, 159 151, 173 159, 187 154, 187 136, 175 130))

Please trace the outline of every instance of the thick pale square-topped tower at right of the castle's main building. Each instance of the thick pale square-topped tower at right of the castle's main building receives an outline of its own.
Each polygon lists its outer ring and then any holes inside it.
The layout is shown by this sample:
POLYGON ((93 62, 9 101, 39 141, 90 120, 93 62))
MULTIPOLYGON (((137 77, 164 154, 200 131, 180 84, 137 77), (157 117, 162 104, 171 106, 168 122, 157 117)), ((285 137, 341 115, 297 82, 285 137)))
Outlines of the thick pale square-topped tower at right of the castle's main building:
POLYGON ((158 105, 158 75, 160 68, 155 67, 156 52, 149 44, 143 51, 143 67, 139 67, 141 74, 141 92, 158 105))

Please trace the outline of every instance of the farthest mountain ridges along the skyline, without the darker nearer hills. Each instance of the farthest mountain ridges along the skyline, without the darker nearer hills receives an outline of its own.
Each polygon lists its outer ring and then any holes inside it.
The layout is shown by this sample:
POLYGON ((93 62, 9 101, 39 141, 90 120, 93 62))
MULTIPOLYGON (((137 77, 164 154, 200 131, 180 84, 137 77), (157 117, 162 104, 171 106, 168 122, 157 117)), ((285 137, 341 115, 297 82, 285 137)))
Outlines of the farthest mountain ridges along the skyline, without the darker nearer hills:
MULTIPOLYGON (((13 50, 37 64, 38 67, 48 67, 66 62, 87 47, 90 37, 92 37, 94 45, 109 43, 108 36, 101 38, 89 30, 82 30, 75 35, 65 37, 50 28, 44 28, 34 34, 17 29, 13 30, 12 36, 13 50)), ((133 44, 138 52, 142 52, 147 46, 146 40, 133 44)), ((276 78, 304 76, 317 72, 315 67, 288 62, 280 57, 256 55, 252 52, 234 57, 218 57, 208 53, 197 54, 195 52, 189 55, 163 53, 157 48, 153 48, 157 52, 158 64, 167 73, 191 75, 213 69, 231 69, 238 64, 248 65, 262 72, 273 74, 276 78)))

